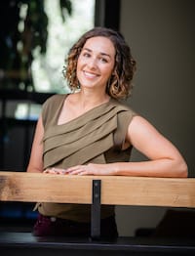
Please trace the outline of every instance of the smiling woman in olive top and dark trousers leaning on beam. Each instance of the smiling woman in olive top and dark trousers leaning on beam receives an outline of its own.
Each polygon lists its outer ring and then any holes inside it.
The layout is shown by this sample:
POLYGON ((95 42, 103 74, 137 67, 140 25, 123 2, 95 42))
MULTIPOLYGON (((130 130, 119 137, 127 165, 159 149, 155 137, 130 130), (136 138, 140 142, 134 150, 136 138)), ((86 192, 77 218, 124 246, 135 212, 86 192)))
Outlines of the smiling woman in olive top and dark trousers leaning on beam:
MULTIPOLYGON (((120 100, 130 96, 136 62, 124 37, 95 27, 70 49, 71 94, 43 106, 27 172, 187 177, 176 147, 120 100), (131 149, 148 157, 129 161, 131 149)), ((90 235, 90 205, 37 203, 34 235, 90 235)), ((113 206, 101 209, 101 235, 117 236, 113 206)))

